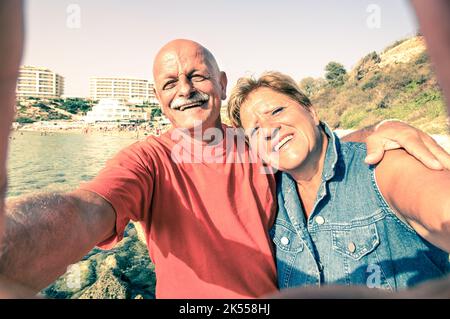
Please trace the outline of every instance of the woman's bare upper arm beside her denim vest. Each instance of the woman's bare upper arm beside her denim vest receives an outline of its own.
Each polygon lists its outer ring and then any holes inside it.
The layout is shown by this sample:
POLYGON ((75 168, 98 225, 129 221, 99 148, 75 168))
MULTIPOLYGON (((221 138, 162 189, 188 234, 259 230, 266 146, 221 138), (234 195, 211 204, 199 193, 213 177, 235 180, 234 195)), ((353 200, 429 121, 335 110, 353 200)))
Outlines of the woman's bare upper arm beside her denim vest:
POLYGON ((450 171, 430 170, 404 150, 394 150, 375 172, 390 207, 420 236, 450 252, 450 171))

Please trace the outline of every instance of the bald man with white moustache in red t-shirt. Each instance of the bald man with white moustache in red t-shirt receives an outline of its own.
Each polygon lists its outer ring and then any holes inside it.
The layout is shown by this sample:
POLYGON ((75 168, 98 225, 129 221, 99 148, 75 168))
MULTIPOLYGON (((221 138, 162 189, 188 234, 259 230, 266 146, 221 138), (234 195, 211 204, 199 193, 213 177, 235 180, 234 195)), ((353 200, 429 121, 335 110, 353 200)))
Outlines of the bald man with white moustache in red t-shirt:
MULTIPOLYGON (((268 237, 276 206, 273 176, 261 174, 258 161, 205 161, 196 151, 206 147, 217 159, 226 144, 232 155, 248 153, 234 137, 206 134, 226 130, 220 119, 226 74, 206 48, 189 40, 165 45, 153 70, 157 97, 174 129, 122 150, 71 193, 10 203, 1 274, 38 291, 95 245, 113 246, 135 220, 145 230, 159 298, 258 297, 276 290, 268 237), (180 146, 181 161, 174 156, 180 146)), ((401 123, 385 123, 370 140, 373 158, 382 156, 380 145, 394 141, 409 145, 429 166, 435 158, 427 143, 448 161, 428 136, 401 123)))

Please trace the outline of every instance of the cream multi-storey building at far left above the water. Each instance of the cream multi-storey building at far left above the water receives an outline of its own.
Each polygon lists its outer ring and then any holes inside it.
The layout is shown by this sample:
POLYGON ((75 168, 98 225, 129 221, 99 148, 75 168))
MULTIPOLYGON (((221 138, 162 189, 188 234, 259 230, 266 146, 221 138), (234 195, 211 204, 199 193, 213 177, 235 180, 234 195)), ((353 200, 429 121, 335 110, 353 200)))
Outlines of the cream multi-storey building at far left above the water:
POLYGON ((17 98, 59 98, 64 94, 64 78, 46 68, 21 66, 17 78, 17 98))

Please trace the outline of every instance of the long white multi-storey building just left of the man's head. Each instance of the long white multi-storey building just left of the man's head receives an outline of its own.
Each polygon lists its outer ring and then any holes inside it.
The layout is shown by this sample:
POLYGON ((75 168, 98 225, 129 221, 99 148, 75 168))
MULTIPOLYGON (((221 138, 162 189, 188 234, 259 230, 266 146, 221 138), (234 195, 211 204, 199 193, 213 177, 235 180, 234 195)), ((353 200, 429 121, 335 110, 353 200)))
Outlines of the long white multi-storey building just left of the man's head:
POLYGON ((122 102, 158 104, 153 84, 143 79, 91 77, 89 97, 93 100, 117 99, 122 102))

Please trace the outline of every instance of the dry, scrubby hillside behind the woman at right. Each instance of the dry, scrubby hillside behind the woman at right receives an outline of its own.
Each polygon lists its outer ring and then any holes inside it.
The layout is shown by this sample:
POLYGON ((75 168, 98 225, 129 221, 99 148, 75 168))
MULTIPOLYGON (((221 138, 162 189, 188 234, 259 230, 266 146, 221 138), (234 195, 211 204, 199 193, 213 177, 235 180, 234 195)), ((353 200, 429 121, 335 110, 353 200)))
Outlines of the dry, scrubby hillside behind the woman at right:
POLYGON ((449 131, 442 93, 420 36, 369 53, 340 85, 306 78, 300 86, 334 128, 361 128, 397 118, 431 134, 449 131))

